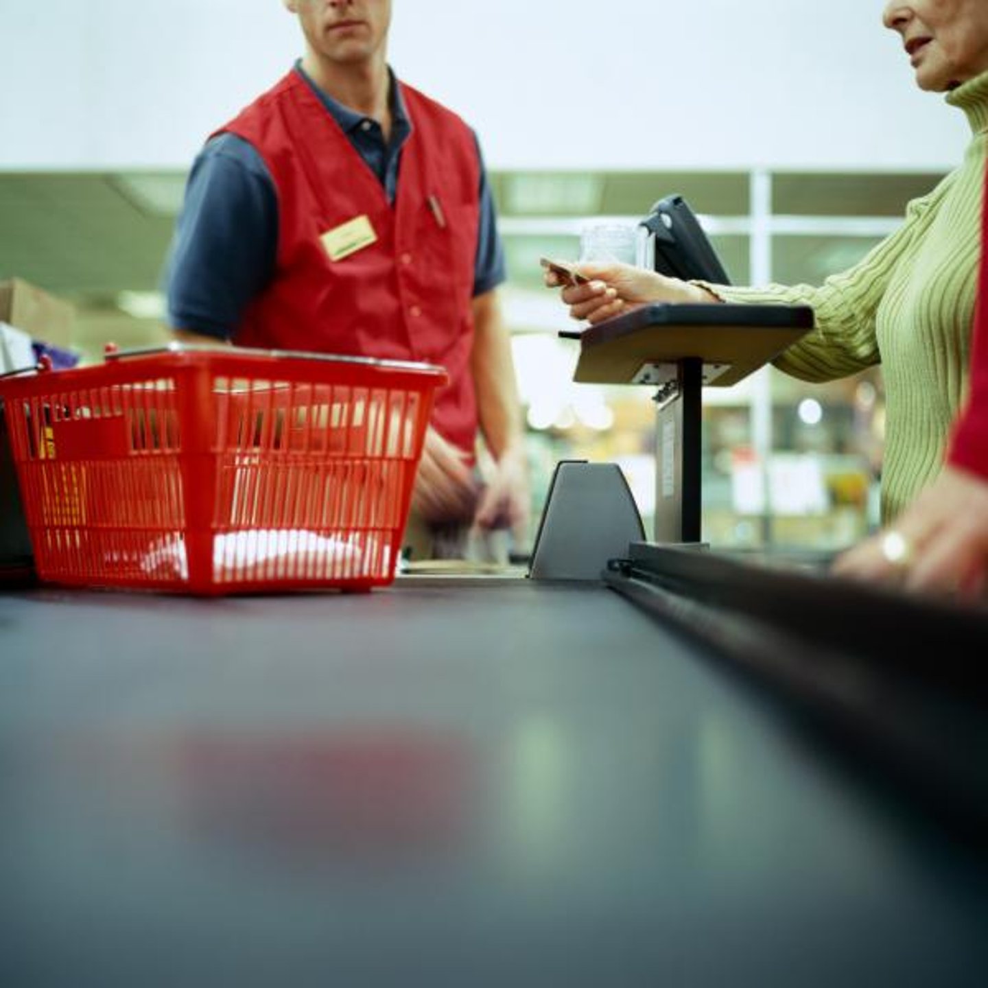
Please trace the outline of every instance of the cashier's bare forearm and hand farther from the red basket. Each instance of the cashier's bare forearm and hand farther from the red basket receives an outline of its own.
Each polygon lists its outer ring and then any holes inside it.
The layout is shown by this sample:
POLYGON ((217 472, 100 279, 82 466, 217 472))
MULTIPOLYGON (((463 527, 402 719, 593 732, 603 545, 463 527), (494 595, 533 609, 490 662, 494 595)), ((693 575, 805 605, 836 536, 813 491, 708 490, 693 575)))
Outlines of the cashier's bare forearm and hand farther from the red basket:
POLYGON ((528 462, 511 339, 496 288, 473 298, 473 334, 470 370, 480 432, 496 463, 475 520, 518 531, 529 518, 528 462))

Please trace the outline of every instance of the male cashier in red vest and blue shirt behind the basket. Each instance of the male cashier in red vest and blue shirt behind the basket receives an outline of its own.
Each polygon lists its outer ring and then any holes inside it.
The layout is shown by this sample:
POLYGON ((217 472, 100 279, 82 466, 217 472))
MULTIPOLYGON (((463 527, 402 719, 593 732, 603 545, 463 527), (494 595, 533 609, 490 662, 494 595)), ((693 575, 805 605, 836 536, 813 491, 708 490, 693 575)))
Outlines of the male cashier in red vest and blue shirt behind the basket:
POLYGON ((442 365, 413 517, 518 529, 523 429, 476 137, 389 69, 391 0, 283 2, 305 54, 193 166, 171 324, 196 342, 442 365), (478 427, 494 462, 482 486, 478 427))

